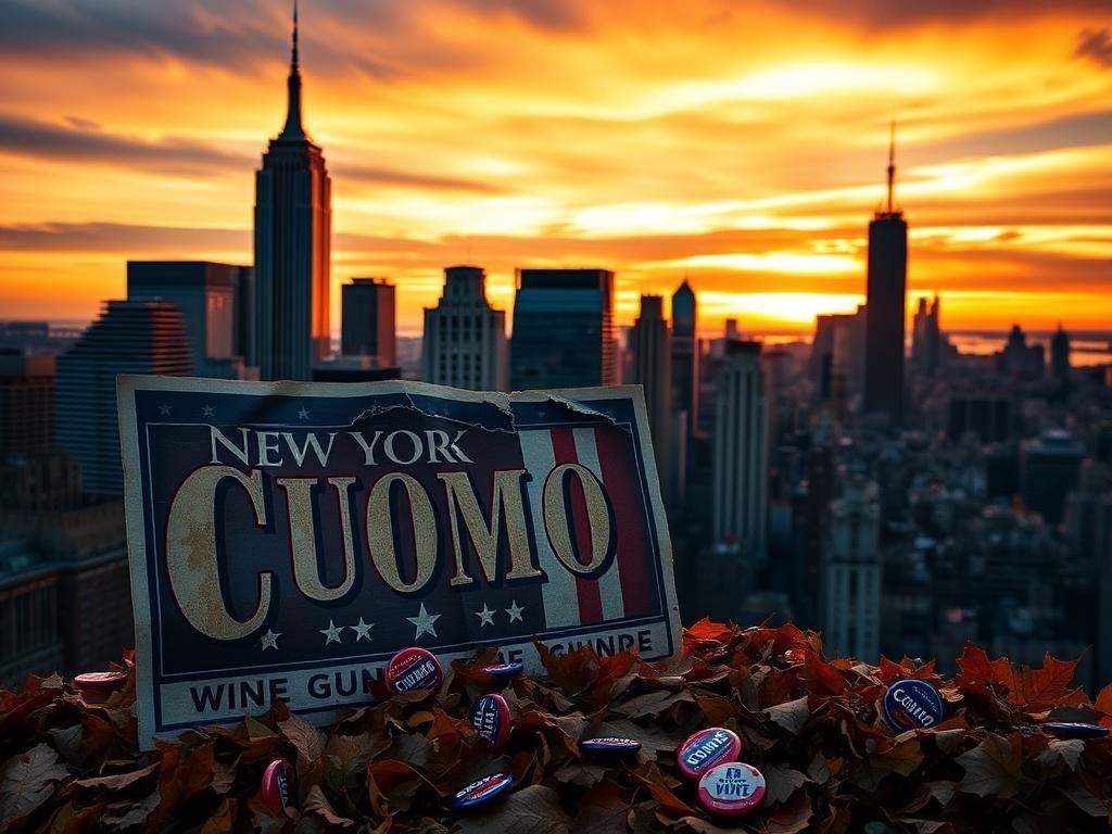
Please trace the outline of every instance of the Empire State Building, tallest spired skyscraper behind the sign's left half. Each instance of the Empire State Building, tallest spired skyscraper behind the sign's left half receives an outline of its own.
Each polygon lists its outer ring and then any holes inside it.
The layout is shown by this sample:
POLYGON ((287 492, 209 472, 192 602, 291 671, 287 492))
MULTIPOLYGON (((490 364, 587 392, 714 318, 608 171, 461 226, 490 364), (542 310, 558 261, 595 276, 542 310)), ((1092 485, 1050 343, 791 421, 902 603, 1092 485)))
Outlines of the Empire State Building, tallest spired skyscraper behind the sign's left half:
POLYGON ((255 178, 255 328, 260 379, 311 378, 330 351, 331 181, 301 126, 297 4, 286 126, 255 178))

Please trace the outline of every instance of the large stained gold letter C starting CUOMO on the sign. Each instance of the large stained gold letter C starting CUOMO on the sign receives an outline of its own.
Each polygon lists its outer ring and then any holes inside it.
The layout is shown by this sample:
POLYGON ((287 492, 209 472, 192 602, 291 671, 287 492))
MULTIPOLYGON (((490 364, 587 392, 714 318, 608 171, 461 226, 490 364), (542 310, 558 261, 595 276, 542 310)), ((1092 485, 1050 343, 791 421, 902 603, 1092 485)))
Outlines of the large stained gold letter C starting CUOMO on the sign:
POLYGON ((167 573, 170 592, 189 624, 218 641, 234 641, 255 632, 270 609, 271 572, 259 574, 259 600, 247 619, 236 619, 224 604, 216 540, 216 489, 232 478, 247 490, 255 523, 267 523, 262 500, 262 473, 245 475, 231 466, 202 466, 193 470, 173 496, 166 526, 167 573))

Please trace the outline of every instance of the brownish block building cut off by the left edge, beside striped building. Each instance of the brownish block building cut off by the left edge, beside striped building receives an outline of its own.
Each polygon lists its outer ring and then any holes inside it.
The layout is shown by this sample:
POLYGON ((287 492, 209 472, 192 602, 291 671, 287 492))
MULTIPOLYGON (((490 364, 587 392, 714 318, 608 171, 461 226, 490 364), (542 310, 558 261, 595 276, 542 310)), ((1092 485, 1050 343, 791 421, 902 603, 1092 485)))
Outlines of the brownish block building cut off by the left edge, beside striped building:
POLYGON ((0 460, 54 441, 54 357, 0 350, 0 460))

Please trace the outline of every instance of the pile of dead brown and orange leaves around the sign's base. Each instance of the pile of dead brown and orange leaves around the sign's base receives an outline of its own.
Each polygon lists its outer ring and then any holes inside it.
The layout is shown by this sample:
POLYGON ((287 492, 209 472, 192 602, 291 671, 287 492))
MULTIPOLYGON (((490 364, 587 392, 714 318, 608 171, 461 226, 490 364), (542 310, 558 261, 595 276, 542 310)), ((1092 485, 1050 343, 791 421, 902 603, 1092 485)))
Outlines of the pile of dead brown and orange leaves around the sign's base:
MULTIPOLYGON (((1112 741, 1059 741, 1048 717, 1112 725, 1112 685, 1090 703, 1071 689, 1073 664, 1041 669, 990 661, 970 646, 953 679, 933 664, 826 661, 817 635, 794 626, 706 620, 677 659, 646 663, 588 649, 542 648, 545 676, 504 694, 514 728, 502 755, 467 721, 499 688, 481 671, 494 652, 456 663, 444 691, 389 696, 327 732, 276 705, 226 729, 188 732, 152 753, 136 746, 128 687, 88 706, 60 678, 0 692, 0 831, 149 832, 1054 832, 1105 831, 1112 741), (946 719, 894 735, 878 715, 886 686, 920 677, 940 688, 946 719), (696 729, 721 725, 767 780, 763 805, 739 822, 712 820, 675 765, 696 729), (642 742, 628 761, 585 758, 578 742, 642 742), (275 816, 259 781, 275 756, 297 772, 297 808, 275 816), (506 770, 515 791, 458 815, 446 798, 506 770)), ((127 664, 130 668, 130 663, 127 664)))

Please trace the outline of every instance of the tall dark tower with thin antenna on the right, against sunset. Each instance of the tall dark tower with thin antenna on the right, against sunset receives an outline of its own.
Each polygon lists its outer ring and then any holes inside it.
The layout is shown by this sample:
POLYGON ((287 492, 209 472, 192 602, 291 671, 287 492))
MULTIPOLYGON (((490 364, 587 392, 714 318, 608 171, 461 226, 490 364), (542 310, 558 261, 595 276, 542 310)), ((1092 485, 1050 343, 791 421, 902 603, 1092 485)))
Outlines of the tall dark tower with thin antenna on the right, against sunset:
POLYGON ((904 317, 907 295, 907 221, 895 208, 895 141, 888 146, 888 196, 868 224, 865 299, 865 414, 898 426, 904 400, 904 317))

